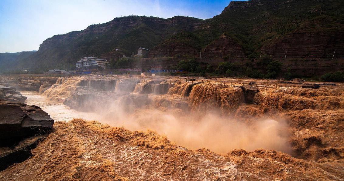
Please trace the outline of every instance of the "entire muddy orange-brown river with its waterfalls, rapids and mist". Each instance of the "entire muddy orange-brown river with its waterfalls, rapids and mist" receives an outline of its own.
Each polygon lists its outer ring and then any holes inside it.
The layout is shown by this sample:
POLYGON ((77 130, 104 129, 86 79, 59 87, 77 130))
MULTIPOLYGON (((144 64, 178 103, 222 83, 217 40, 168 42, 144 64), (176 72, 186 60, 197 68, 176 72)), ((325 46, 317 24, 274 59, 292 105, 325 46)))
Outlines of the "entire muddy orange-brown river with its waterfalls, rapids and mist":
POLYGON ((241 85, 77 77, 21 91, 57 122, 0 180, 344 179, 343 85, 241 85))

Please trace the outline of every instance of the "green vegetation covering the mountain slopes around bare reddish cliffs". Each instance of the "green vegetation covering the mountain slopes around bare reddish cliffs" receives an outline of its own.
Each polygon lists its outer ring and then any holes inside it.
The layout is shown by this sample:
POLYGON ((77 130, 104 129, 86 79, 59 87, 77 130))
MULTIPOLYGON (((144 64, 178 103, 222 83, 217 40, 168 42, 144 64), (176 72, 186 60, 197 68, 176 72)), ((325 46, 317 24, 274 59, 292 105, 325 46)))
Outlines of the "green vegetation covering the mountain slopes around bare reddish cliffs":
MULTIPOLYGON (((36 53, 18 56, 15 64, 1 66, 10 70, 47 70, 75 68, 75 61, 81 57, 106 58, 111 68, 138 65, 133 59, 120 59, 122 55, 135 55, 138 47, 151 50, 161 47, 162 51, 186 48, 185 54, 192 56, 216 41, 221 35, 230 36, 241 46, 245 57, 260 57, 265 47, 293 32, 340 32, 344 30, 344 1, 318 0, 254 0, 232 1, 224 11, 211 19, 175 16, 169 19, 147 16, 126 16, 115 18, 103 24, 94 24, 82 31, 54 35, 46 39, 36 53), (179 46, 183 45, 183 46, 179 46)), ((337 53, 340 53, 338 50, 337 53)), ((263 52, 264 54, 264 52, 263 52)), ((326 55, 331 56, 331 55, 326 55)), ((179 57, 176 69, 188 72, 208 72, 216 75, 248 76, 254 78, 292 78, 291 72, 281 75, 278 61, 262 56, 259 70, 250 65, 238 67, 224 63, 209 67, 207 63, 197 64, 189 57, 179 57), (190 67, 189 67, 190 66, 190 67)), ((10 60, 6 60, 10 61, 10 60)), ((5 64, 2 64, 5 65, 5 64)), ((330 76, 331 77, 331 76, 330 76)))

